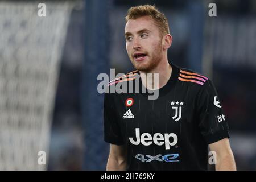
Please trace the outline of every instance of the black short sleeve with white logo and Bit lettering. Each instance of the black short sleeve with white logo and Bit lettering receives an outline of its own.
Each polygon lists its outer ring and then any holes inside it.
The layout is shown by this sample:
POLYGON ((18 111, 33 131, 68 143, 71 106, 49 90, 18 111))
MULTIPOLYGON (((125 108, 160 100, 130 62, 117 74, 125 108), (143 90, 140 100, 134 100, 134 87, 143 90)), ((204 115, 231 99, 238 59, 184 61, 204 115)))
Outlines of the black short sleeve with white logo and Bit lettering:
POLYGON ((197 97, 197 116, 201 134, 208 144, 229 138, 227 118, 211 80, 205 82, 197 97))

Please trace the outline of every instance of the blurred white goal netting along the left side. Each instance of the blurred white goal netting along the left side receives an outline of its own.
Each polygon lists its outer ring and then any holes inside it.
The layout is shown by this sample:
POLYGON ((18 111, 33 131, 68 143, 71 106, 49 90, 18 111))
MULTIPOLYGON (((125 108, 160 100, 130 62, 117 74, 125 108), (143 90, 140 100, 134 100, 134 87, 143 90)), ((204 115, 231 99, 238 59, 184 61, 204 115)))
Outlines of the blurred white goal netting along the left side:
POLYGON ((0 2, 0 170, 42 170, 59 61, 74 1, 0 2))

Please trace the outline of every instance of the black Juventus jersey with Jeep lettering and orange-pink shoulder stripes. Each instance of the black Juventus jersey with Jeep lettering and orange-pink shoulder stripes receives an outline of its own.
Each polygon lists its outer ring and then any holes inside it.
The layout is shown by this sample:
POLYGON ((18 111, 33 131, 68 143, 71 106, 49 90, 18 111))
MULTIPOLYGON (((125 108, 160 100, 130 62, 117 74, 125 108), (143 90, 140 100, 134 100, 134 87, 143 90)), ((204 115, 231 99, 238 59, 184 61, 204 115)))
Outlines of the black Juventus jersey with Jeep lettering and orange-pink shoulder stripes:
MULTIPOLYGON (((159 96, 150 93, 105 93, 105 141, 126 147, 127 170, 207 170, 208 144, 228 137, 222 106, 213 82, 171 64, 159 96)), ((133 84, 134 71, 109 83, 133 84)), ((129 86, 128 86, 129 87, 129 86)))

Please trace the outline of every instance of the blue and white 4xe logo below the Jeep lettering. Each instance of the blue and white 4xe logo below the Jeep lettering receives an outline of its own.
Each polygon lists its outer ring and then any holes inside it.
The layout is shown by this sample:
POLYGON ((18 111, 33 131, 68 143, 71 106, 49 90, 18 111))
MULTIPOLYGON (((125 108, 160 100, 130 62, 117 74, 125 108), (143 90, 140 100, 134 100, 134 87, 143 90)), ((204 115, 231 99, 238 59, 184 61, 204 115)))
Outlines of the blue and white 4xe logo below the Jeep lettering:
POLYGON ((135 155, 135 158, 138 160, 141 160, 141 162, 152 162, 154 160, 157 160, 159 162, 167 162, 167 163, 171 163, 171 162, 179 162, 180 160, 178 160, 177 158, 179 157, 179 154, 166 154, 166 155, 162 155, 162 154, 158 154, 156 156, 152 156, 152 155, 143 155, 143 154, 137 154, 135 155))

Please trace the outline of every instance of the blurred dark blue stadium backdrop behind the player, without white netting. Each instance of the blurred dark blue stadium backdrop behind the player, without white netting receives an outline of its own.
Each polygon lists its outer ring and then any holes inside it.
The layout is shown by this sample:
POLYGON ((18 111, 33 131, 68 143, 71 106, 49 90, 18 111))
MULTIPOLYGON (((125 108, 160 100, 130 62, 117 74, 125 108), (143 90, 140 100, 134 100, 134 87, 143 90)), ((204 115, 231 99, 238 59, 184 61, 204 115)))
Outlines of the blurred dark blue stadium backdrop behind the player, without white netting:
POLYGON ((97 76, 109 74, 110 68, 116 74, 134 70, 125 49, 125 16, 131 6, 150 4, 170 24, 168 60, 207 75, 216 85, 237 169, 256 170, 256 1, 72 3, 53 98, 46 169, 105 170, 109 144, 103 137, 104 96, 97 92, 97 76), (208 15, 212 2, 217 5, 216 17, 208 15))

